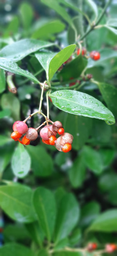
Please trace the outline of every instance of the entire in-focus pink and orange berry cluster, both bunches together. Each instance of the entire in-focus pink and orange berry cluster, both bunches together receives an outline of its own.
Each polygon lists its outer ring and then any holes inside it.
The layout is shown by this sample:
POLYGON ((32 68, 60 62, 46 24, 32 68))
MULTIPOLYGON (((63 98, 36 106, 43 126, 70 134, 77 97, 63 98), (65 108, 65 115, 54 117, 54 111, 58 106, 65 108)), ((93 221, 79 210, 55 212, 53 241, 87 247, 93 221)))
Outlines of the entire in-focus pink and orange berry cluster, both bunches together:
MULTIPOLYGON (((52 122, 53 123, 53 122, 52 122)), ((38 137, 37 130, 39 128, 28 128, 23 121, 16 121, 13 124, 13 132, 11 138, 19 141, 24 145, 29 145, 30 141, 34 141, 38 137)), ((52 125, 47 124, 40 131, 42 142, 48 145, 54 145, 57 150, 67 153, 71 150, 73 136, 70 133, 65 133, 61 122, 56 121, 52 125), (57 133, 60 135, 56 138, 57 133)))

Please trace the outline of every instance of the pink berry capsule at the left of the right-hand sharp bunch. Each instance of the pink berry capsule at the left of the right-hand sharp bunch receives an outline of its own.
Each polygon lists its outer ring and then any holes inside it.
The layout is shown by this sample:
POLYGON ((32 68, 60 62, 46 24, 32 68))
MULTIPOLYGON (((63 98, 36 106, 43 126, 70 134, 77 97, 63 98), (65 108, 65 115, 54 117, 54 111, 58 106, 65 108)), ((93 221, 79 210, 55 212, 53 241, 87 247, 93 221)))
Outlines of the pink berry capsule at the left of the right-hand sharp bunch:
POLYGON ((40 136, 44 141, 48 141, 51 135, 56 136, 56 131, 53 129, 53 125, 46 125, 40 131, 40 136))

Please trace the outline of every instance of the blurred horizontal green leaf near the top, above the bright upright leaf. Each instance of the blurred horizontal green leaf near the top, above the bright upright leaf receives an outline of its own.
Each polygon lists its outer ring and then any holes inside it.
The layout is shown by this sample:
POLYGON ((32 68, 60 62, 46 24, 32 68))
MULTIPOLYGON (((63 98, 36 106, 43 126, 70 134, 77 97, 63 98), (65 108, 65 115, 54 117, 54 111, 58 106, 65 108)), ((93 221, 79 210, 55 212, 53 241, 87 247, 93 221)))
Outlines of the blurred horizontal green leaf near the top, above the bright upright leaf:
POLYGON ((51 20, 44 25, 38 26, 37 30, 32 34, 32 38, 48 38, 51 34, 60 33, 65 28, 64 23, 60 20, 51 20))

